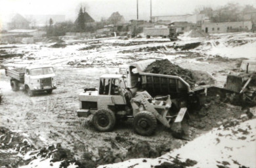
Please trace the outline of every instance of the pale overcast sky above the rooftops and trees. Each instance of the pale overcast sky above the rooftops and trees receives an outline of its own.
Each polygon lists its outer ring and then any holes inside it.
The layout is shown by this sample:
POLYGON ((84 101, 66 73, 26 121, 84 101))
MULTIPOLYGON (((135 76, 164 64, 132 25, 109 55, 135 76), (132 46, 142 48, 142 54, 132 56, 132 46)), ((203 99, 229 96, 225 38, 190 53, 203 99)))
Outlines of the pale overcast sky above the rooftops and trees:
MULTIPOLYGON (((152 0, 152 16, 173 14, 192 14, 196 7, 213 8, 238 3, 253 5, 256 0, 152 0)), ((28 14, 65 14, 66 20, 75 20, 79 6, 86 6, 86 11, 96 20, 108 18, 112 12, 119 12, 125 20, 137 18, 137 0, 0 0, 0 22, 8 16, 20 13, 28 14)), ((149 20, 150 0, 139 0, 139 19, 149 20)))

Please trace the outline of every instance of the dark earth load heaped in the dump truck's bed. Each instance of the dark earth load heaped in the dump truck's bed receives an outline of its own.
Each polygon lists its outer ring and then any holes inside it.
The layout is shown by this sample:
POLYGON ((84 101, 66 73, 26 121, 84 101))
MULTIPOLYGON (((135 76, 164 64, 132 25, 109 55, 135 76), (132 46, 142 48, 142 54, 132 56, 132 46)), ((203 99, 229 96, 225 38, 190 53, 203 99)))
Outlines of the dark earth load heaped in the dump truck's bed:
POLYGON ((191 71, 171 63, 169 60, 156 60, 144 70, 147 73, 175 75, 184 79, 191 87, 195 85, 209 85, 215 82, 207 72, 191 71))

